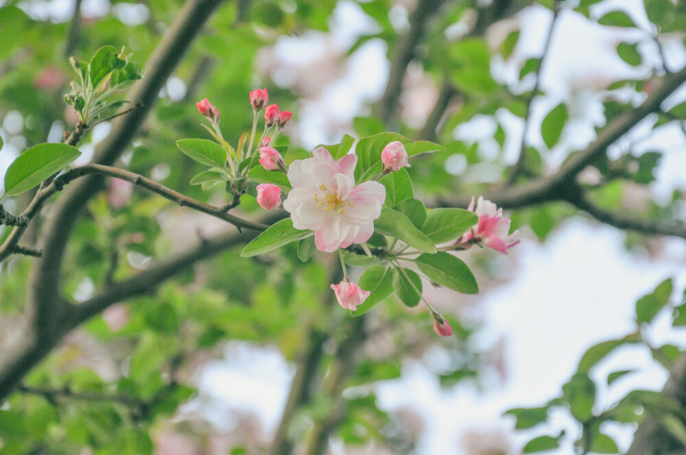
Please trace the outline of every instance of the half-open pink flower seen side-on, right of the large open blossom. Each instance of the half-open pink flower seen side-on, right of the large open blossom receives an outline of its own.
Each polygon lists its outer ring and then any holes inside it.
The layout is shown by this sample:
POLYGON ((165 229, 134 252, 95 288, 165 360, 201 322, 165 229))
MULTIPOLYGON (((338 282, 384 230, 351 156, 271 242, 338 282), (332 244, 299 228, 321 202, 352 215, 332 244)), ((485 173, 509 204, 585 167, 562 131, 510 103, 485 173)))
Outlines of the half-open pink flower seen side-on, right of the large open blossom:
POLYGON ((467 210, 472 210, 479 215, 479 222, 460 237, 456 244, 483 243, 487 247, 508 254, 508 248, 519 243, 519 231, 510 232, 510 219, 503 217, 503 209, 497 208, 491 201, 479 197, 474 210, 474 198, 467 210))

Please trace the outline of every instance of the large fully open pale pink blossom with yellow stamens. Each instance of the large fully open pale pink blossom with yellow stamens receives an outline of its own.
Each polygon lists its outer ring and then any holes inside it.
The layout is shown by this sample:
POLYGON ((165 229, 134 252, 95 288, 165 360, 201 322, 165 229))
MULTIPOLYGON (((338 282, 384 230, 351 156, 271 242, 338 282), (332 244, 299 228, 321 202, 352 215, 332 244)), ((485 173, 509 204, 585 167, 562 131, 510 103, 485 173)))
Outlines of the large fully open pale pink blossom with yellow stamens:
POLYGON ((312 158, 296 160, 288 168, 293 189, 283 208, 291 213, 293 227, 314 230, 314 244, 320 251, 363 243, 374 233, 386 188, 379 182, 355 186, 355 164, 355 155, 336 162, 327 149, 318 147, 312 158))

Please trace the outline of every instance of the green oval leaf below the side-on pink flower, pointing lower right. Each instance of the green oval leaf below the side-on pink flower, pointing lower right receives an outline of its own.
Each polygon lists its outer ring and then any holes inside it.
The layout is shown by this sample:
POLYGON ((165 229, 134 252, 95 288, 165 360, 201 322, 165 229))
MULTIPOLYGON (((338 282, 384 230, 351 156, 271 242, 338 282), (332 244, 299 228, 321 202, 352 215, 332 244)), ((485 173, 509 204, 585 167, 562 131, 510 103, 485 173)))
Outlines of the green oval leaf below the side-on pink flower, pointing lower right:
POLYGON ((419 270, 433 282, 463 294, 479 292, 479 285, 469 267, 452 254, 445 251, 422 254, 415 261, 419 270))

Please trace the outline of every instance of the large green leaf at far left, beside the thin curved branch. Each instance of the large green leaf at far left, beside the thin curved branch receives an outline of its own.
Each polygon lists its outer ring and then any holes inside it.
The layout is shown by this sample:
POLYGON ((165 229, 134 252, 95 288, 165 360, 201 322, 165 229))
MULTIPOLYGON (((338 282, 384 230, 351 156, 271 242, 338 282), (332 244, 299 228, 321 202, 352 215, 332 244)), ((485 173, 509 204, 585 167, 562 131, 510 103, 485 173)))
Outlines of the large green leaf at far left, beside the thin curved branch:
POLYGON ((67 164, 81 156, 81 152, 67 144, 38 144, 16 158, 5 173, 5 193, 18 195, 43 182, 67 164))

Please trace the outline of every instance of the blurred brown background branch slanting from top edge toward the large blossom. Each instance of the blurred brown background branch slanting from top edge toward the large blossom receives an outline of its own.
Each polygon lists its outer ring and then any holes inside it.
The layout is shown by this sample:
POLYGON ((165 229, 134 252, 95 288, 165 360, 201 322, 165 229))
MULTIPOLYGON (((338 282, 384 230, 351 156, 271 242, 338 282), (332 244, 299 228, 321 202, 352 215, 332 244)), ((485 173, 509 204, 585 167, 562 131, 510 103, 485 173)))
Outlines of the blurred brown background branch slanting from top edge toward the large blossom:
POLYGON ((414 52, 424 39, 427 23, 436 14, 445 0, 419 0, 410 18, 410 31, 401 39, 390 65, 386 91, 379 100, 379 118, 384 124, 392 122, 398 107, 407 65, 414 58, 414 52))

